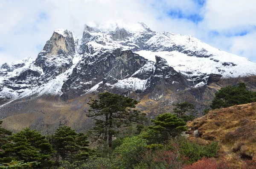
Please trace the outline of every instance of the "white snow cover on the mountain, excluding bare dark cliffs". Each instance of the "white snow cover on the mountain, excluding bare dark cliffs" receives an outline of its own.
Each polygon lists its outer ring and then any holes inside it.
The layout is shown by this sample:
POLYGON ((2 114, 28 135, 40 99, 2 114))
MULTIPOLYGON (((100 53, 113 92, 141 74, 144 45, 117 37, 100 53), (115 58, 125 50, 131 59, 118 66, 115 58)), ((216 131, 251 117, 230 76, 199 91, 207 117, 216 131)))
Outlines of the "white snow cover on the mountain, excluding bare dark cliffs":
MULTIPOLYGON (((147 63, 140 69, 136 69, 133 74, 121 79, 113 79, 114 83, 111 84, 105 83, 110 88, 123 91, 145 91, 146 84, 150 83, 149 80, 153 74, 155 77, 163 77, 154 72, 161 72, 158 69, 166 69, 166 66, 171 66, 175 71, 183 74, 195 88, 206 85, 209 74, 220 74, 222 78, 256 75, 256 64, 247 58, 215 49, 190 35, 154 32, 144 23, 124 21, 98 25, 87 23, 83 36, 76 38, 75 42, 70 31, 57 29, 54 33, 64 37, 67 51, 65 51, 66 48, 61 50, 56 48, 58 51, 53 52, 56 56, 51 57, 49 54, 52 53, 52 49, 49 44, 49 51, 46 51, 48 50, 46 47, 38 54, 38 62, 28 57, 0 66, 0 99, 17 99, 32 94, 61 95, 63 93, 61 88, 67 80, 70 80, 71 74, 79 72, 84 65, 102 63, 99 61, 105 60, 116 49, 131 50, 147 59, 147 63), (165 59, 168 64, 156 70, 155 56, 165 59)), ((105 64, 104 69, 107 69, 108 63, 105 64)), ((77 76, 83 76, 86 73, 80 72, 77 76)), ((105 72, 99 72, 99 74, 103 73, 105 72)), ((172 75, 167 74, 165 77, 170 78, 172 75)), ((87 79, 77 84, 88 87, 92 85, 93 80, 95 79, 87 79)), ((103 85, 101 79, 96 83, 84 92, 97 91, 103 85)), ((172 81, 172 84, 176 83, 172 81)), ((79 88, 79 86, 72 87, 79 88)), ((70 86, 67 89, 70 89, 70 86)))

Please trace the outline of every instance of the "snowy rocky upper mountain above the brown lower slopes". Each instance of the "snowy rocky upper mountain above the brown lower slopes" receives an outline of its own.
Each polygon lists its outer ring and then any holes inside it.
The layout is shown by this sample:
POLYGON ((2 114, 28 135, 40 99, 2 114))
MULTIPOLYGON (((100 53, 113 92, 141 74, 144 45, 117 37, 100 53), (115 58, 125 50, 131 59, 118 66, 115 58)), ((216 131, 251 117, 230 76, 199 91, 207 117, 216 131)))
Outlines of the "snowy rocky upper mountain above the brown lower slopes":
POLYGON ((154 32, 144 23, 88 23, 78 38, 55 30, 35 60, 0 66, 0 101, 42 95, 70 100, 93 91, 158 99, 167 88, 204 88, 212 76, 253 75, 255 63, 190 35, 154 32))

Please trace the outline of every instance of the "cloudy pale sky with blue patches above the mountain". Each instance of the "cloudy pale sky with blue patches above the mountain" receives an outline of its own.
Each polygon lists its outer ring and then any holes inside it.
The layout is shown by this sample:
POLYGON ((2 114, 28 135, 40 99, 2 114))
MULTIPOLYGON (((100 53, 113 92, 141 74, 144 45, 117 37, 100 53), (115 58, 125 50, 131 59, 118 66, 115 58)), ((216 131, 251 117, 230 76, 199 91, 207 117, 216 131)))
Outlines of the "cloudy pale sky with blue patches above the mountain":
POLYGON ((190 34, 256 63, 255 0, 0 0, 0 65, 36 58, 55 29, 79 37, 85 23, 115 20, 190 34))

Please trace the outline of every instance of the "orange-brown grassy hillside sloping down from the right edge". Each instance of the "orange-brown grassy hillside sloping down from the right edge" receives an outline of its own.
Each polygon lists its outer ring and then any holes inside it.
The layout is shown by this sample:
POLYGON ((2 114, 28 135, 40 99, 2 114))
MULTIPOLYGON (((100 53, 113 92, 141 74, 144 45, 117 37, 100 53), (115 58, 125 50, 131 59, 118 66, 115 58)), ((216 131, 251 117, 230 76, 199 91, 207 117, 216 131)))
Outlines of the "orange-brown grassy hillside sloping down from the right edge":
POLYGON ((220 156, 238 164, 256 158, 256 103, 215 109, 188 123, 190 139, 198 143, 218 141, 220 156), (196 133, 196 132, 194 132, 196 133))

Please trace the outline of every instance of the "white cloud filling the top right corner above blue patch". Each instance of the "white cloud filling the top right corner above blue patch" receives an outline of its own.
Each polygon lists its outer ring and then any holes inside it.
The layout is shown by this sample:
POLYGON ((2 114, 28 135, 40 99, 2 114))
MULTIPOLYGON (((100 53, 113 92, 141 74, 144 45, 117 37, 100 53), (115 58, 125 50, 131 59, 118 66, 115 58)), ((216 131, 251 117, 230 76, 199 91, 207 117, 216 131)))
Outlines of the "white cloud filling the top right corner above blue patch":
POLYGON ((255 6, 254 0, 207 0, 204 26, 223 31, 256 25, 255 6))

